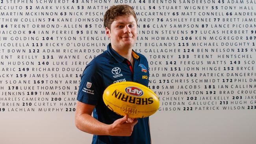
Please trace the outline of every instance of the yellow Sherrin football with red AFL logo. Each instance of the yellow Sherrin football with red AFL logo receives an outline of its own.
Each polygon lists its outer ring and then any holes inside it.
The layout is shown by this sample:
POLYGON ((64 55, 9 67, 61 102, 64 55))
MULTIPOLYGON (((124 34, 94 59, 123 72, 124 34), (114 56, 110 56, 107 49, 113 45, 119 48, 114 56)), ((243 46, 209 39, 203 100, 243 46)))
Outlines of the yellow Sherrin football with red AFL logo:
POLYGON ((113 112, 130 118, 145 118, 158 110, 159 100, 148 87, 124 81, 109 85, 103 93, 103 101, 113 112))

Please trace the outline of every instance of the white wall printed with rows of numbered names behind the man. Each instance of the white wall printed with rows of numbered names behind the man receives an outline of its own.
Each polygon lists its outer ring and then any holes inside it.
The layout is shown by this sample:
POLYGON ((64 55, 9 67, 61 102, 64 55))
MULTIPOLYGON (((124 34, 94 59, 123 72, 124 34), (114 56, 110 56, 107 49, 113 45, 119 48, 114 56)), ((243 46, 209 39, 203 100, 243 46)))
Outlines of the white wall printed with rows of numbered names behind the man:
MULTIPOLYGON (((74 126, 76 92, 86 63, 109 43, 98 20, 117 3, 0 2, 1 143, 91 143, 74 126)), ((150 117, 152 143, 253 144, 256 2, 118 2, 135 7, 134 50, 147 57, 150 89, 160 98, 161 111, 150 117)))

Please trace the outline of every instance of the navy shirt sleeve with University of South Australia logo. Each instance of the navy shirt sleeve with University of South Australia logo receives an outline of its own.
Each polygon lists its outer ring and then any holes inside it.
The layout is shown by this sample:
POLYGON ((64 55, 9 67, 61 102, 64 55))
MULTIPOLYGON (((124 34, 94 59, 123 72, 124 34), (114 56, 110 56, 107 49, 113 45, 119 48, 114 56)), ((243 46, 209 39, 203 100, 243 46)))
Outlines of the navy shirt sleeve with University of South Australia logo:
POLYGON ((102 83, 100 68, 97 63, 91 61, 83 71, 77 100, 82 103, 97 105, 103 94, 102 83))

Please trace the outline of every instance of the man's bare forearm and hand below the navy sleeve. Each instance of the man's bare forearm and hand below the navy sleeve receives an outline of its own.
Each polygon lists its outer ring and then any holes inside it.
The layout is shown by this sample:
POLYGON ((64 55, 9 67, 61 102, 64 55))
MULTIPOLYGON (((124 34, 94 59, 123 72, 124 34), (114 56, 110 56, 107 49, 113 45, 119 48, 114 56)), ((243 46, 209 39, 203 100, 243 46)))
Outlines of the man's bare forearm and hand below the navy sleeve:
POLYGON ((130 136, 138 120, 128 118, 117 119, 113 124, 104 124, 91 116, 95 105, 89 105, 77 101, 75 123, 76 127, 93 135, 130 136))

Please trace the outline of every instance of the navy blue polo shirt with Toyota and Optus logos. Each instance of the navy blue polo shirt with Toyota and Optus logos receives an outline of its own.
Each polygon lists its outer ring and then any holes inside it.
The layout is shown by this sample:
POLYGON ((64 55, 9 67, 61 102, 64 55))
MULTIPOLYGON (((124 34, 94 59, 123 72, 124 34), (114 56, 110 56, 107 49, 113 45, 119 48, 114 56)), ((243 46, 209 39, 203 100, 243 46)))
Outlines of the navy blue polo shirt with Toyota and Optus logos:
MULTIPOLYGON (((122 118, 113 113, 103 102, 104 90, 111 84, 122 81, 134 81, 148 87, 148 62, 144 55, 132 51, 134 67, 119 55, 111 44, 108 50, 95 57, 83 71, 77 100, 95 105, 93 117, 105 124, 112 124, 122 118)), ((139 118, 130 137, 93 135, 92 144, 150 144, 148 117, 139 118)))

